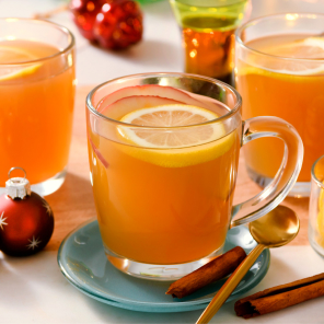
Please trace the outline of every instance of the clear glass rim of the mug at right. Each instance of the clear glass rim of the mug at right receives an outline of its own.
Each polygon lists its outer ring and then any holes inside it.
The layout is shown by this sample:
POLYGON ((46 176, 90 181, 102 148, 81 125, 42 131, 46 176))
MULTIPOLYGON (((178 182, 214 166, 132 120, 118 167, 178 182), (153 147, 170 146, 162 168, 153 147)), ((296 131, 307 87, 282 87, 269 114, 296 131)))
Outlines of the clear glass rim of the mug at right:
MULTIPOLYGON (((286 13, 275 13, 275 14, 267 14, 263 16, 255 18, 253 20, 247 21, 243 25, 241 25, 236 31, 235 31, 235 43, 238 43, 241 47, 243 47, 246 50, 251 50, 257 55, 262 55, 265 57, 274 58, 274 59, 280 59, 280 60, 286 60, 286 61, 297 61, 297 62, 322 62, 324 61, 324 58, 296 58, 296 57, 285 57, 285 56, 278 56, 278 55, 271 55, 266 51, 262 51, 258 49, 255 49, 251 46, 247 46, 245 42, 241 38, 242 33, 259 22, 263 22, 265 20, 275 20, 275 19, 282 19, 287 18, 288 15, 296 16, 294 19, 299 18, 309 18, 309 19, 322 19, 324 21, 324 13, 315 13, 315 12, 286 12, 286 13)), ((277 35, 274 33, 273 35, 277 35)))

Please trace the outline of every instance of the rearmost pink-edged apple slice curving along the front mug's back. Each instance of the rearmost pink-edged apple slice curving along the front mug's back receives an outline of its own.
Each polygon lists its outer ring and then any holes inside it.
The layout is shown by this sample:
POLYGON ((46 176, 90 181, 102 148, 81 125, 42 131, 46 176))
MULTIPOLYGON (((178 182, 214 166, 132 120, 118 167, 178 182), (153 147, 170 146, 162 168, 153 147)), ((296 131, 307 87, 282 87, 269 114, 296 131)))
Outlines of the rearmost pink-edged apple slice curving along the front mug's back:
POLYGON ((183 92, 182 90, 172 88, 172 86, 164 86, 158 84, 147 84, 147 85, 135 85, 135 86, 126 86, 120 90, 117 90, 107 96, 105 96, 97 105, 97 112, 103 113, 105 108, 117 102, 120 99, 129 97, 129 96, 159 96, 165 97, 170 100, 180 101, 183 104, 198 106, 208 108, 208 106, 201 103, 198 100, 193 99, 189 94, 183 92))

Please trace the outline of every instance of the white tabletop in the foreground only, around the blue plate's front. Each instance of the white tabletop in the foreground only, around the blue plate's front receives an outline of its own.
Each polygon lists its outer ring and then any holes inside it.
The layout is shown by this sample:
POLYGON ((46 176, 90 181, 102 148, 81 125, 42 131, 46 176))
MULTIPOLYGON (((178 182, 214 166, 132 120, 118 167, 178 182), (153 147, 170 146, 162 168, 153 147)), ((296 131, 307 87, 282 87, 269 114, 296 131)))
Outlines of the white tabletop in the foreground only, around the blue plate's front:
MULTIPOLYGON (((101 303, 84 296, 65 279, 56 257, 56 252, 43 252, 26 258, 1 259, 0 323, 195 323, 201 314, 201 311, 142 313, 101 303)), ((274 248, 266 277, 248 294, 323 270, 323 258, 310 246, 274 248)), ((324 323, 323 299, 251 319, 248 323, 324 323)), ((246 323, 246 320, 236 317, 232 301, 225 303, 210 323, 246 323)))

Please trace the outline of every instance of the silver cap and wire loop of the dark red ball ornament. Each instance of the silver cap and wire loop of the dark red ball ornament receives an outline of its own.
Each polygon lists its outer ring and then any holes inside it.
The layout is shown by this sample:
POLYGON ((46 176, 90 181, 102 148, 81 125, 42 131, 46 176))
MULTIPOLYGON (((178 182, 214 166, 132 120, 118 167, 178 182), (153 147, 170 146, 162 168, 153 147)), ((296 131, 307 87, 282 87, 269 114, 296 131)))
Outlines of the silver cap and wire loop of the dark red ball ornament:
POLYGON ((14 198, 25 198, 26 196, 31 196, 32 190, 31 190, 31 184, 30 182, 26 180, 26 172, 19 166, 15 167, 11 167, 9 173, 9 180, 5 182, 5 190, 7 190, 7 195, 9 197, 11 197, 12 199, 14 198), (24 177, 10 177, 10 173, 13 170, 22 170, 25 174, 24 177))

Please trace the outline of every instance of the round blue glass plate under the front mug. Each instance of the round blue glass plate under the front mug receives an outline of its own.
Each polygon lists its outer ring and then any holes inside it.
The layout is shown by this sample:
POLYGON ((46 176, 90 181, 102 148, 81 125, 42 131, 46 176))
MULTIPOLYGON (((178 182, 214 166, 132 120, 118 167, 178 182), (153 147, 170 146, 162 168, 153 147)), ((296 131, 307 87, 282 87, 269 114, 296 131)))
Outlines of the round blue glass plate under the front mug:
MULTIPOLYGON (((248 253, 256 242, 248 229, 228 232, 224 251, 242 246, 248 253)), ((254 288, 266 275, 270 253, 265 250, 228 301, 254 288)), ((183 298, 165 294, 171 282, 135 278, 117 270, 106 258, 96 220, 71 232, 58 251, 58 264, 68 281, 86 296, 106 304, 140 312, 185 312, 205 309, 225 279, 183 298)))

